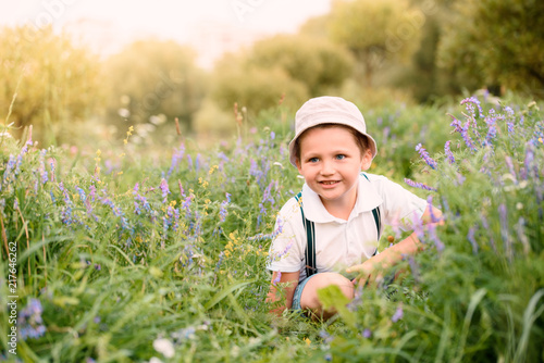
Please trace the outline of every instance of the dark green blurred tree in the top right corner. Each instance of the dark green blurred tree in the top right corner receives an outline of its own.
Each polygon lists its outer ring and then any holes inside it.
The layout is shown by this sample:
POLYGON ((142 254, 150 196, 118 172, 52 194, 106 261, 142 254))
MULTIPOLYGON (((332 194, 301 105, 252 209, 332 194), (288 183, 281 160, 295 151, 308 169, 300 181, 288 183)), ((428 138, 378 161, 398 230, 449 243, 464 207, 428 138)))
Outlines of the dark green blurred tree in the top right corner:
POLYGON ((544 98, 544 1, 457 0, 454 9, 440 43, 441 66, 479 87, 544 98))

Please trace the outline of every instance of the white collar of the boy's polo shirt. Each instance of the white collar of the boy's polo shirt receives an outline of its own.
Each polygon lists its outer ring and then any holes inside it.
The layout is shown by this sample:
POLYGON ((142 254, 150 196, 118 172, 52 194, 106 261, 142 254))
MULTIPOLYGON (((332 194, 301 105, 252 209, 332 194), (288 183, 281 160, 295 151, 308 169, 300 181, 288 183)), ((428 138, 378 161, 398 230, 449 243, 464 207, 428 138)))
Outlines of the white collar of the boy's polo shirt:
MULTIPOLYGON (((359 182, 357 185, 357 201, 355 202, 354 211, 351 212, 350 218, 362 212, 370 212, 378 205, 382 204, 383 199, 374 189, 374 186, 367 180, 362 175, 359 175, 359 182)), ((345 221, 337 218, 330 214, 319 195, 308 187, 307 184, 302 186, 302 209, 306 218, 316 223, 327 223, 327 222, 341 222, 345 221)))

